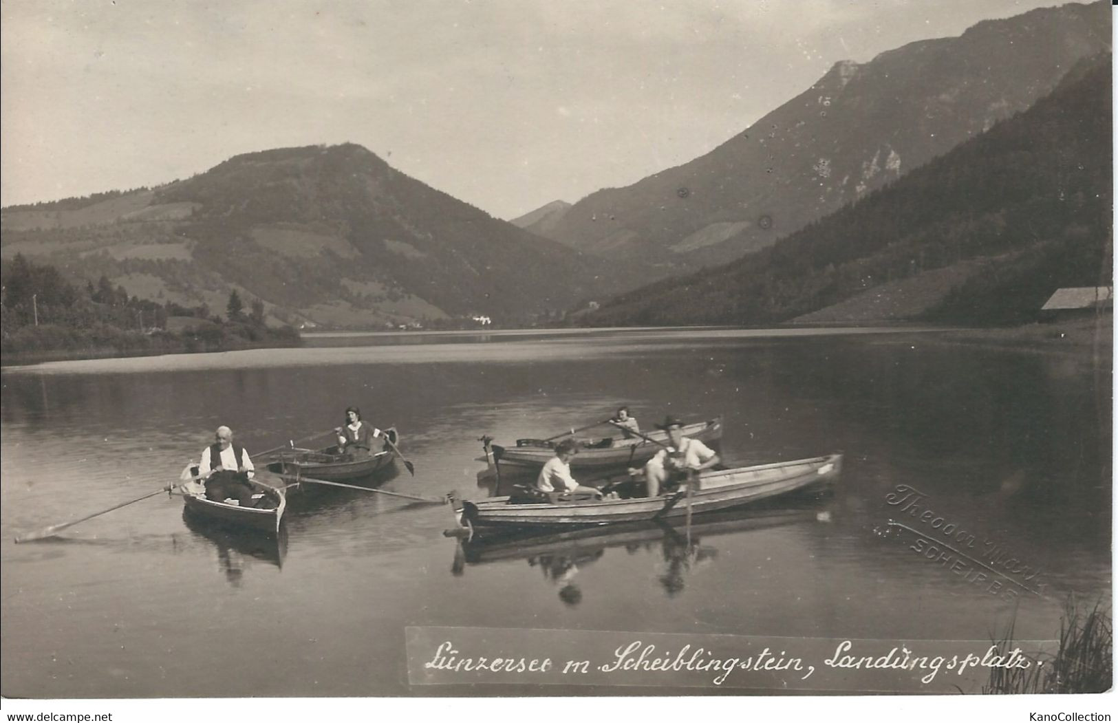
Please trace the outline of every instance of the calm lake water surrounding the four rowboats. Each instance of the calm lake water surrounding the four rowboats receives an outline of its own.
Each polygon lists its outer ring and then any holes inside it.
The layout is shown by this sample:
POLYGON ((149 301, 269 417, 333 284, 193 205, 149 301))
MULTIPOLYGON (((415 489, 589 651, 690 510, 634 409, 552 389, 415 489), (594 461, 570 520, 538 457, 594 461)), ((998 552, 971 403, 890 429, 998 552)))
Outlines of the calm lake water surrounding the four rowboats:
POLYGON ((1110 360, 871 331, 315 335, 6 368, 2 693, 617 694, 410 686, 405 628, 988 640, 1012 621, 1051 639, 1069 594, 1109 605, 1110 360), (575 543, 459 549, 447 506, 344 489, 293 496, 278 540, 163 494, 12 542, 176 481, 221 424, 253 454, 358 405, 416 467, 382 488, 468 498, 492 493, 483 434, 547 437, 622 403, 643 428, 721 415, 730 466, 841 451, 843 473, 828 494, 575 543))

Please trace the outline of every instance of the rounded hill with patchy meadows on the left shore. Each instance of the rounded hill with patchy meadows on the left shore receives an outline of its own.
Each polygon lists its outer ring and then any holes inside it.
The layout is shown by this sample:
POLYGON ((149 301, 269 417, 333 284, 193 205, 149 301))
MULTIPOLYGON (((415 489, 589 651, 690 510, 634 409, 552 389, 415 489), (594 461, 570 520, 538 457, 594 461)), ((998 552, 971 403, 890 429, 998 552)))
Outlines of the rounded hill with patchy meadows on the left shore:
POLYGON ((524 322, 603 283, 589 259, 353 144, 246 153, 154 189, 11 207, 0 228, 4 257, 214 310, 238 289, 293 322, 524 322))

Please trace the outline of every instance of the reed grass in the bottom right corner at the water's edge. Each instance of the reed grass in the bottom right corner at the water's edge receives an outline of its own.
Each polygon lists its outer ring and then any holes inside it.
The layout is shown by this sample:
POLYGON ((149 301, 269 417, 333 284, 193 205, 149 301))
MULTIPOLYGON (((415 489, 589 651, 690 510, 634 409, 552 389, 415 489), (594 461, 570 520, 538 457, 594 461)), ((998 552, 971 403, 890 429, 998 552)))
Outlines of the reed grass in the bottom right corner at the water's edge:
MULTIPOLYGON (((998 649, 1013 647, 1016 618, 1002 639, 992 639, 998 649)), ((1114 679, 1114 622, 1101 602, 1087 611, 1073 599, 1064 603, 1060 618, 1060 646, 1054 655, 1027 668, 994 667, 983 693, 1103 693, 1114 679)))

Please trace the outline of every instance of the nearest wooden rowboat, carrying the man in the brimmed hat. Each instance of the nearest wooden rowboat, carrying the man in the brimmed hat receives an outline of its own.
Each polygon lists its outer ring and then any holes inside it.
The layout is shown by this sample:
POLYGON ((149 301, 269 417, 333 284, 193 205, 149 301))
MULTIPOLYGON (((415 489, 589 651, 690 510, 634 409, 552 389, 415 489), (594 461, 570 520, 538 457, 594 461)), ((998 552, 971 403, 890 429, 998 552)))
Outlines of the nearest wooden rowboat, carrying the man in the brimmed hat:
POLYGON ((517 504, 513 497, 461 503, 461 523, 476 535, 510 527, 603 525, 662 520, 748 505, 821 483, 842 467, 842 455, 699 473, 690 494, 659 497, 517 504))

